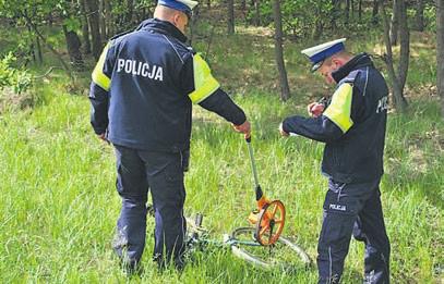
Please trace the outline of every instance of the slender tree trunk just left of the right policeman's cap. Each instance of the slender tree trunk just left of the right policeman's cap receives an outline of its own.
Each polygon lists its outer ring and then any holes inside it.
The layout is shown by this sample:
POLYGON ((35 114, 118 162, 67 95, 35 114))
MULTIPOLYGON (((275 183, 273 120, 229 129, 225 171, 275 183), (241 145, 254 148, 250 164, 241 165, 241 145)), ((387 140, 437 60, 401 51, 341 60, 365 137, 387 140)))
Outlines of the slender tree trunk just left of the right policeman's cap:
POLYGON ((279 71, 280 99, 283 101, 286 101, 290 97, 290 88, 288 86, 287 71, 285 69, 284 62, 283 18, 280 14, 280 0, 273 1, 273 17, 275 21, 275 57, 277 69, 279 71))

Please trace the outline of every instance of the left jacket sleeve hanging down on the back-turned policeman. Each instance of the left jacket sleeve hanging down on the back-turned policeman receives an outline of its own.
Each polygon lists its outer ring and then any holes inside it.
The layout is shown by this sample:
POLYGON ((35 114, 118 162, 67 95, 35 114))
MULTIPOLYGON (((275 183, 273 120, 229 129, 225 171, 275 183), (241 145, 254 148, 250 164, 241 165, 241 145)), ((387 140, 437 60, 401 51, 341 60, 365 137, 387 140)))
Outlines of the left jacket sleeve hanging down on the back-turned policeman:
POLYGON ((93 71, 89 87, 91 124, 96 134, 104 134, 108 128, 108 91, 111 85, 113 62, 109 55, 109 44, 105 47, 93 71))

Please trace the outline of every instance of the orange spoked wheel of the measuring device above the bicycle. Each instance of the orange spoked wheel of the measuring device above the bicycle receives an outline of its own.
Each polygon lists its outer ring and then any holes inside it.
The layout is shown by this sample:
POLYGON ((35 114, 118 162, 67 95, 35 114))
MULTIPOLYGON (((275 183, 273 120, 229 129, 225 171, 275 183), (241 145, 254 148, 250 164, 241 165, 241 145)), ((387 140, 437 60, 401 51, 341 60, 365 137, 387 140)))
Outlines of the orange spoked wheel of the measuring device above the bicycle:
POLYGON ((285 225, 285 207, 280 200, 265 205, 257 218, 254 237, 263 246, 274 245, 285 225))

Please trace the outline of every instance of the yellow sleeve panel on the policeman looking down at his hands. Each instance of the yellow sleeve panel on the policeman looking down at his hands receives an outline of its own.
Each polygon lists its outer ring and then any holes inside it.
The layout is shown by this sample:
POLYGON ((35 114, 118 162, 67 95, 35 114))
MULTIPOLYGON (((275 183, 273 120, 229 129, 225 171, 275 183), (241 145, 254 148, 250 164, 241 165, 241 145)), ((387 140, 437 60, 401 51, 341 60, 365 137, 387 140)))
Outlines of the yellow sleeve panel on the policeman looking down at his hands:
POLYGON ((332 103, 324 111, 333 123, 335 123, 343 133, 346 133, 353 125, 351 120, 351 98, 353 96, 353 87, 348 83, 344 83, 333 94, 332 103))

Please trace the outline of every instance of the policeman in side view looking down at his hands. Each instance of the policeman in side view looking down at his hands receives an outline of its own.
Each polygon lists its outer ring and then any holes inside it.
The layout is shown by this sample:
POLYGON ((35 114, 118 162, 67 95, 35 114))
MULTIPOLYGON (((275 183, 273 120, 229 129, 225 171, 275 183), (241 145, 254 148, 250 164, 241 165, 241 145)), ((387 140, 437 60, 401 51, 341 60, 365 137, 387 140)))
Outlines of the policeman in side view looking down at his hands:
POLYGON ((302 51, 326 83, 337 84, 311 118, 290 116, 283 136, 325 143, 322 173, 328 177, 317 244, 319 283, 338 283, 350 237, 365 244, 364 283, 389 283, 389 240, 380 198, 388 89, 365 53, 352 57, 345 38, 302 51))

